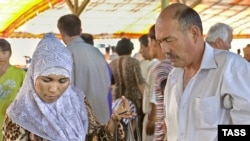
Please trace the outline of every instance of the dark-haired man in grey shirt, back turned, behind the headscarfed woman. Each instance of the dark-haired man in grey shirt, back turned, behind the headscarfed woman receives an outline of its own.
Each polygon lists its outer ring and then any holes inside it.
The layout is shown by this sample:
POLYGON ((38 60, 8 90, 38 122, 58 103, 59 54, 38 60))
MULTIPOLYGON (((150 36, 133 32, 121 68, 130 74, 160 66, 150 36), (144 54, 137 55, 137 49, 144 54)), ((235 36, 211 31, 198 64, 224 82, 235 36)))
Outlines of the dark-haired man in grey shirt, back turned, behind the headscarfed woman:
POLYGON ((108 93, 111 80, 103 54, 80 37, 81 21, 76 15, 60 17, 57 27, 73 55, 73 84, 84 91, 98 121, 107 123, 110 116, 108 93))

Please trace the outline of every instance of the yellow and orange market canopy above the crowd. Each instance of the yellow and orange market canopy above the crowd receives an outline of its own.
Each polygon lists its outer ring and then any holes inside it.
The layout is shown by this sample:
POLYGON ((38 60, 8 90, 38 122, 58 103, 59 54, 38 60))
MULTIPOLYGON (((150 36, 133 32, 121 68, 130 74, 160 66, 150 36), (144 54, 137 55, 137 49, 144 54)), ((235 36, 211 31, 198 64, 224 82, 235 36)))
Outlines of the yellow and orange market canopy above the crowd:
POLYGON ((79 15, 83 32, 95 38, 137 38, 155 23, 163 3, 182 2, 199 12, 207 33, 229 24, 234 38, 250 38, 250 0, 0 0, 0 37, 41 38, 58 34, 57 20, 79 15))

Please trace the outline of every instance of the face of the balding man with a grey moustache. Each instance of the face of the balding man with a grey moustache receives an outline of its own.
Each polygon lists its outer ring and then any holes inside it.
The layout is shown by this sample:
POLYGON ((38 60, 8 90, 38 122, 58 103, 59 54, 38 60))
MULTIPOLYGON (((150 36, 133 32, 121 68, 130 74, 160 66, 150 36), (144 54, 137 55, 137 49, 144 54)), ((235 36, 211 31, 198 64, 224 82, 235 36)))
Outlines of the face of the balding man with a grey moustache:
POLYGON ((183 31, 177 20, 165 16, 156 22, 156 40, 175 67, 185 67, 192 62, 192 35, 183 31))

